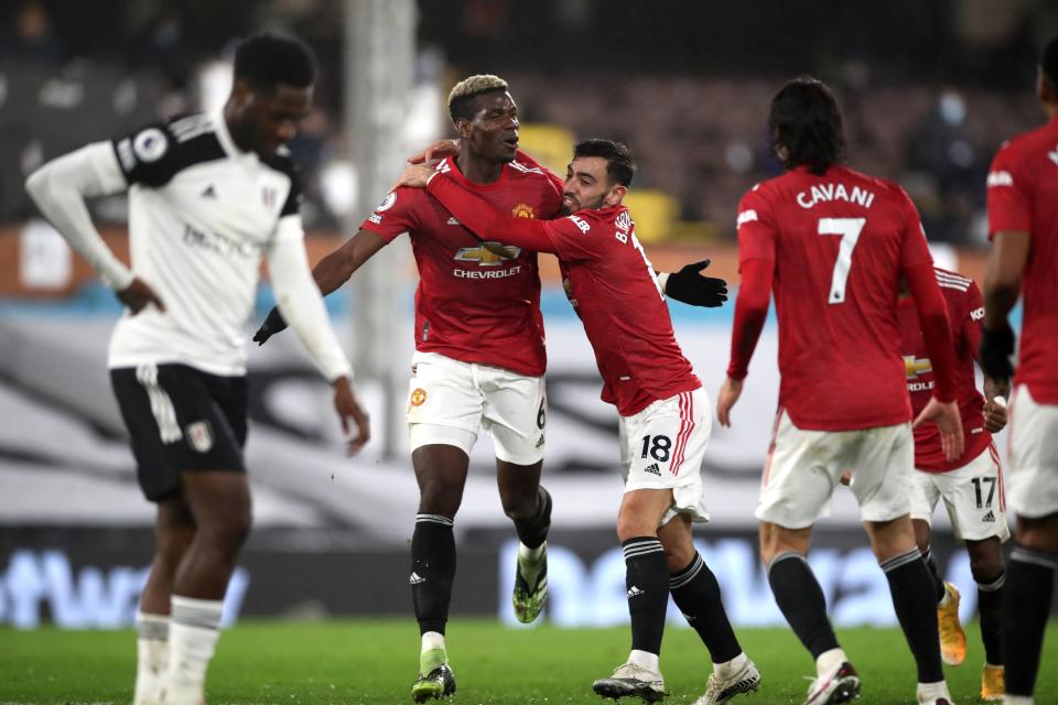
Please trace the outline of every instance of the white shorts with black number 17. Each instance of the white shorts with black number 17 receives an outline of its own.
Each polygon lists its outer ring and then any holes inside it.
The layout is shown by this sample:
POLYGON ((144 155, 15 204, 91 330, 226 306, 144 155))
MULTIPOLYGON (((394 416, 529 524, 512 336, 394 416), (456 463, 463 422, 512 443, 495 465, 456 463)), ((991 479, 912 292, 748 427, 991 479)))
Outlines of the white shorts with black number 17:
POLYGON ((911 519, 929 521, 937 502, 944 500, 958 541, 1006 541, 1006 497, 995 445, 965 465, 947 473, 916 469, 911 480, 911 519))

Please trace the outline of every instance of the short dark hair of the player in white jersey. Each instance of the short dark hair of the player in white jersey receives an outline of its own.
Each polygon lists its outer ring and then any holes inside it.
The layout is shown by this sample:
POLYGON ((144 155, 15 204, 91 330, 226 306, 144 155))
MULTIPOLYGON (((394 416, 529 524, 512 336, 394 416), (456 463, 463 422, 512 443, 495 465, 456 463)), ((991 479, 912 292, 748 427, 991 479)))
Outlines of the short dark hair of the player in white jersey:
POLYGON ((235 50, 235 78, 258 89, 272 89, 279 84, 307 88, 316 78, 316 59, 299 39, 271 32, 255 34, 235 50))

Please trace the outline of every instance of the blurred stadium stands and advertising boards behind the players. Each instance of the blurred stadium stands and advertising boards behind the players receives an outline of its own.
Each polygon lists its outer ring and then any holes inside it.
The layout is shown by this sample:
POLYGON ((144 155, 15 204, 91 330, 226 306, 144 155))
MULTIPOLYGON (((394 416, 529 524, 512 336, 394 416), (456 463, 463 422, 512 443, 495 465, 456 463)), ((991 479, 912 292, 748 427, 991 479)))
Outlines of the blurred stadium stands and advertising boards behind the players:
MULTIPOLYGON (((218 107, 238 37, 295 33, 320 57, 316 107, 291 144, 307 183, 315 260, 356 230, 404 156, 447 135, 447 90, 496 73, 523 118, 522 149, 564 170, 573 140, 626 141, 640 170, 628 203, 661 269, 710 257, 737 282, 738 197, 777 173, 764 129, 787 78, 832 85, 853 167, 899 181, 942 265, 980 276, 984 178, 1000 142, 1043 121, 1035 59, 1058 32, 1045 0, 12 0, 0 9, 0 623, 131 623, 151 550, 152 508, 134 482, 106 375, 114 296, 34 213, 22 182, 45 160, 160 116, 218 107)), ((126 253, 126 204, 93 204, 126 253)), ((614 519, 617 423, 581 326, 546 268, 555 498, 551 603, 559 625, 627 618, 614 519)), ((256 530, 228 615, 407 615, 407 544, 418 491, 402 422, 414 265, 407 242, 328 300, 375 438, 343 456, 326 386, 292 336, 251 350, 247 448, 256 530)), ((258 317, 271 297, 262 285, 258 317)), ((677 334, 715 394, 732 307, 671 306, 677 334)), ((252 326, 257 322, 251 322, 252 326)), ((759 469, 777 392, 766 329, 735 427, 714 429, 713 523, 703 554, 739 625, 779 625, 756 560, 759 469)), ((825 380, 820 380, 825 384, 825 380)), ((1005 435, 1005 434, 1004 434, 1005 435)), ((1004 441, 1000 437, 1001 444, 1004 441)), ((483 440, 456 520, 453 609, 512 621, 514 532, 483 440)), ((963 587, 963 553, 938 517, 937 545, 963 587)), ((883 574, 848 492, 820 525, 812 563, 835 621, 889 625, 883 574)), ((678 615, 677 615, 678 616, 678 615)))

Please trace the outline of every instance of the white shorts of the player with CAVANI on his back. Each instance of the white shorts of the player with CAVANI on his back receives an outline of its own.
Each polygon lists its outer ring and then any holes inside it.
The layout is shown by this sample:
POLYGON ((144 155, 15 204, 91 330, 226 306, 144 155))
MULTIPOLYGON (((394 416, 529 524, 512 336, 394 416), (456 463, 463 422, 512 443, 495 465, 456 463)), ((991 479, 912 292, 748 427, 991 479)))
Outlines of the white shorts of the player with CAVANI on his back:
POLYGON ((845 470, 863 521, 889 521, 908 513, 915 464, 911 425, 857 431, 806 431, 779 409, 764 466, 760 521, 805 529, 830 513, 830 498, 845 470))

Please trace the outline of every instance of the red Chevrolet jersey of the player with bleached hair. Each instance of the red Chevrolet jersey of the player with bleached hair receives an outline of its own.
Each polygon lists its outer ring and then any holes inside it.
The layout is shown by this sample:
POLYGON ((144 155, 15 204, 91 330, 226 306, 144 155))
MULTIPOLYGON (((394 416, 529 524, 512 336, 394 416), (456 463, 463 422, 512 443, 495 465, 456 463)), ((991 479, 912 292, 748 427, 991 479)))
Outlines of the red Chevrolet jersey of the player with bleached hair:
MULTIPOLYGON (((540 169, 505 164, 492 184, 467 181, 451 158, 439 165, 504 213, 549 218, 561 195, 540 169)), ((415 349, 464 362, 539 377, 547 366, 537 253, 518 247, 499 256, 422 188, 398 188, 360 225, 387 240, 411 238, 415 290, 415 349)))

